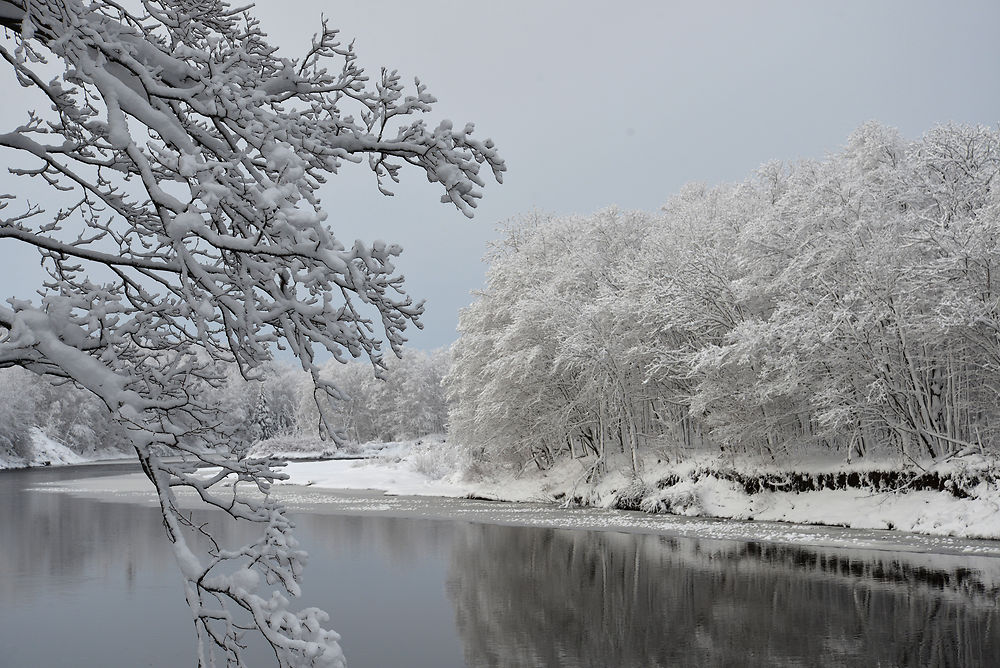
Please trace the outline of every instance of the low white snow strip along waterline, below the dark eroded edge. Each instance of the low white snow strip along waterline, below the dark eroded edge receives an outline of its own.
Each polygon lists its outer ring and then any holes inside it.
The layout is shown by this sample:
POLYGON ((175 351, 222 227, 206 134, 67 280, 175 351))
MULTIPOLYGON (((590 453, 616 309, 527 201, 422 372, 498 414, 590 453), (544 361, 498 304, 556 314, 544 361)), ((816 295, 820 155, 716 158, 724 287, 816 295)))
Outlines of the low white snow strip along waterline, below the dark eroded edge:
MULTIPOLYGON (((394 444, 392 456, 358 461, 291 463, 287 483, 324 489, 370 489, 391 495, 475 496, 504 501, 557 502, 574 497, 593 507, 611 507, 634 483, 630 475, 611 473, 597 484, 583 482, 586 468, 564 462, 548 471, 525 471, 494 481, 458 478, 448 466, 447 447, 436 442, 394 444)), ((887 464, 883 462, 882 464, 887 464)), ((691 464, 688 464, 690 466, 691 464)), ((704 462, 701 463, 704 465, 704 462)), ((817 469, 828 464, 815 463, 817 469)), ((683 467, 681 467, 683 468, 683 467)), ((962 538, 1000 539, 1000 490, 981 484, 969 498, 947 492, 874 492, 822 490, 801 493, 746 494, 737 484, 706 477, 683 480, 664 489, 652 483, 678 466, 647 462, 639 490, 646 510, 700 518, 725 518, 855 529, 898 531, 962 538)))

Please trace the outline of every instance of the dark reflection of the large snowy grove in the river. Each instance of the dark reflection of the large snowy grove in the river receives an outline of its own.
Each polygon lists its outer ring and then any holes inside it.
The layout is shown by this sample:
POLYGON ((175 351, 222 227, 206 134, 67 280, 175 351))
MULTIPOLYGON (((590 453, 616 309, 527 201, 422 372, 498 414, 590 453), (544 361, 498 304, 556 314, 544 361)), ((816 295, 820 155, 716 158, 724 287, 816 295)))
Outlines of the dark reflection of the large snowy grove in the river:
POLYGON ((448 588, 476 667, 995 665, 974 571, 864 556, 466 525, 448 588))

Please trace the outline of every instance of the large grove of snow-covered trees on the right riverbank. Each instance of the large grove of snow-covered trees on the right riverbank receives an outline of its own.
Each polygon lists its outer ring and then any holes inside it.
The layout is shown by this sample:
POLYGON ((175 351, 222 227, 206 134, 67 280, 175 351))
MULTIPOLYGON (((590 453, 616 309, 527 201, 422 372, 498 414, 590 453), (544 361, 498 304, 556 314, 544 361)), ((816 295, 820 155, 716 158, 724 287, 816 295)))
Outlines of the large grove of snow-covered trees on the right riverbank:
POLYGON ((453 440, 595 470, 650 448, 995 454, 998 170, 994 129, 870 123, 656 214, 527 217, 461 316, 453 440))

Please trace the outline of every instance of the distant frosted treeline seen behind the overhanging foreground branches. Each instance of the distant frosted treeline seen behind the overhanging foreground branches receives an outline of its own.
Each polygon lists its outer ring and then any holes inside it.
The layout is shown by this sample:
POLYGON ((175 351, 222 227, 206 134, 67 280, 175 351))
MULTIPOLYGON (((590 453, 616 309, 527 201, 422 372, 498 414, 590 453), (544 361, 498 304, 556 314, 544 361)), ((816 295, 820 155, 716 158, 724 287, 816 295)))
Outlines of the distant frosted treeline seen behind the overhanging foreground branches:
MULTIPOLYGON (((309 375, 279 362, 269 364, 260 380, 245 380, 231 369, 214 392, 234 441, 318 440, 320 410, 345 441, 417 438, 446 429, 441 378, 447 364, 444 351, 407 350, 403 359, 386 360, 385 378, 379 379, 370 363, 331 360, 321 377, 343 392, 342 401, 322 395, 317 402, 309 375)), ((53 384, 21 369, 0 369, 0 458, 29 458, 33 427, 81 453, 125 442, 121 427, 93 394, 71 382, 53 384)))

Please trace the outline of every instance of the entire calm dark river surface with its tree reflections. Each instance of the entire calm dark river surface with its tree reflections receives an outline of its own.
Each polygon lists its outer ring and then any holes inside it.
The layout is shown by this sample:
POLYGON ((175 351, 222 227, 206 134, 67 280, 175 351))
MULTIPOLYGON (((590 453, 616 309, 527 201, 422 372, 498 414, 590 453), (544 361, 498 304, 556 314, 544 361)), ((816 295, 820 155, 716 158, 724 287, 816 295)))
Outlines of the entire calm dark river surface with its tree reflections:
MULTIPOLYGON (((35 491, 121 471, 0 473, 3 668, 194 665, 158 511, 35 491)), ((349 506, 294 516, 351 668, 1000 665, 996 558, 349 506)))

